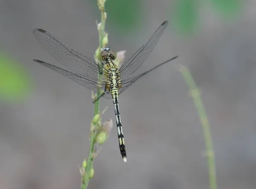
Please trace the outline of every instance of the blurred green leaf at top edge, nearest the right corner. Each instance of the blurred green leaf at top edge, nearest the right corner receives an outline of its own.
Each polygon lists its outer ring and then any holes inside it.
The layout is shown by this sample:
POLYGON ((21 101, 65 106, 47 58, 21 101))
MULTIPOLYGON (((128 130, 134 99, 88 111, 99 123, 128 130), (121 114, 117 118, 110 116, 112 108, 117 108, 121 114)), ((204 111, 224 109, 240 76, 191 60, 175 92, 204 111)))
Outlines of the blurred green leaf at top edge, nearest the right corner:
POLYGON ((241 10, 241 0, 210 0, 224 16, 234 15, 241 10))

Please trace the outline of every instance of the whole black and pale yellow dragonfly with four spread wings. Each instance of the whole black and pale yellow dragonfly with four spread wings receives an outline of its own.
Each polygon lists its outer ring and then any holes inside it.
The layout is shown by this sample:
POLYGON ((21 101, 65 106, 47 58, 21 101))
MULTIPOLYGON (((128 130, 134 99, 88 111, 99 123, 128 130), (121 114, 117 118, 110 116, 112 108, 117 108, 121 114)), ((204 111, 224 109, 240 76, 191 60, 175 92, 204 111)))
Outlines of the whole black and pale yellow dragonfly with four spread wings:
MULTIPOLYGON (((47 62, 33 59, 41 65, 44 65, 68 78, 72 79, 76 83, 86 87, 97 93, 102 91, 103 96, 106 99, 112 99, 116 115, 116 126, 119 138, 119 149, 124 162, 127 162, 125 141, 122 131, 121 116, 119 110, 118 96, 130 87, 141 77, 161 65, 176 59, 178 56, 162 62, 159 65, 138 74, 137 76, 131 76, 138 68, 145 62, 151 51, 154 49, 164 30, 168 21, 164 21, 151 35, 151 38, 146 42, 139 50, 137 50, 130 58, 128 58, 120 68, 114 62, 116 59, 116 52, 111 48, 102 48, 100 53, 100 62, 96 62, 88 56, 85 56, 78 51, 73 50, 69 46, 56 39, 52 34, 43 29, 34 29, 33 34, 43 48, 51 54, 58 62, 65 65, 70 69, 64 70, 55 65, 47 62), (100 77, 99 77, 100 76, 100 77)), ((98 98, 99 99, 99 98, 98 98)))

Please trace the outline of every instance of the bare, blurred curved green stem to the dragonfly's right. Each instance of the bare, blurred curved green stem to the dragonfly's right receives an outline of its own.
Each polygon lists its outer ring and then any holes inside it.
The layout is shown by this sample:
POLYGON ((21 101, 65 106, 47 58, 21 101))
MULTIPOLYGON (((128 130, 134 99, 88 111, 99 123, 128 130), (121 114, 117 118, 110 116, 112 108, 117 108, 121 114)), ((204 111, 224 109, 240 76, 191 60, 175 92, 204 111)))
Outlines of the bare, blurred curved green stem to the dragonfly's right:
POLYGON ((207 152, 206 154, 207 154, 208 171, 209 171, 209 189, 217 189, 215 160, 214 160, 214 151, 212 148, 211 131, 210 131, 210 125, 207 118, 207 114, 204 109, 204 104, 201 100, 201 93, 198 90, 195 80, 193 79, 191 73, 189 72, 189 68, 187 68, 184 65, 181 65, 180 72, 182 73, 184 79, 186 80, 186 84, 189 87, 190 95, 194 100, 194 104, 198 112, 198 116, 200 118, 200 122, 204 131, 204 140, 205 140, 205 146, 206 146, 206 152, 207 152))

